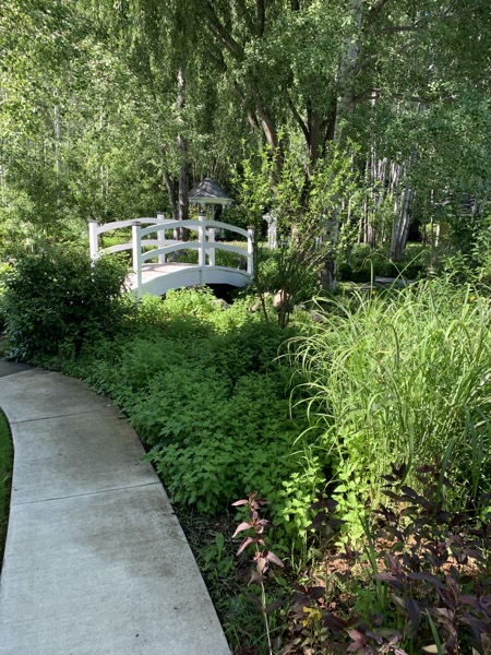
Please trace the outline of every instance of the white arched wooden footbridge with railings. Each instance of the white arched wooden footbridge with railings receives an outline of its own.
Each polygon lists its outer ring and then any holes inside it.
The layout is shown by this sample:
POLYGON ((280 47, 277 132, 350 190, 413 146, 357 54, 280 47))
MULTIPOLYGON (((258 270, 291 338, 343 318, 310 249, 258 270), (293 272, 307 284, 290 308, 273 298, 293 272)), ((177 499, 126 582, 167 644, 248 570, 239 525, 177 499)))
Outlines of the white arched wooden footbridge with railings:
POLYGON ((141 298, 144 294, 161 296, 169 289, 177 289, 199 284, 228 284, 243 287, 250 284, 253 271, 252 229, 242 229, 235 225, 218 221, 206 221, 199 216, 197 221, 169 221, 163 214, 157 218, 139 218, 136 221, 117 221, 98 225, 97 221, 88 222, 91 258, 96 260, 101 254, 111 252, 132 252, 132 272, 129 284, 133 293, 141 298), (131 241, 99 248, 99 237, 104 233, 131 227, 131 241), (176 228, 187 228, 196 233, 197 239, 178 241, 167 238, 167 233, 176 228), (225 229, 247 238, 247 250, 239 246, 216 241, 216 229, 225 229), (168 255, 179 250, 197 250, 197 264, 169 262, 168 255), (216 251, 233 252, 244 258, 244 269, 216 265, 216 251))

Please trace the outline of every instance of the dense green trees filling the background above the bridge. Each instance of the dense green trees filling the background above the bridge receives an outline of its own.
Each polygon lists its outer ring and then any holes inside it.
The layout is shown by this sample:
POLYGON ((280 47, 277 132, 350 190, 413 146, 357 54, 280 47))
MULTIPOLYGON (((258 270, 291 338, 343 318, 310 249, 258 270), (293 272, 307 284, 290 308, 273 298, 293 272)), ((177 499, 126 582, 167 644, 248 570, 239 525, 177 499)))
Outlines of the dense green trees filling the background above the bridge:
POLYGON ((489 194, 490 14, 487 0, 9 0, 2 250, 86 238, 88 218, 185 218, 205 176, 240 201, 265 146, 267 182, 289 176, 299 211, 340 171, 336 203, 315 205, 333 238, 398 261, 409 230, 434 242, 444 224, 463 246, 489 194))

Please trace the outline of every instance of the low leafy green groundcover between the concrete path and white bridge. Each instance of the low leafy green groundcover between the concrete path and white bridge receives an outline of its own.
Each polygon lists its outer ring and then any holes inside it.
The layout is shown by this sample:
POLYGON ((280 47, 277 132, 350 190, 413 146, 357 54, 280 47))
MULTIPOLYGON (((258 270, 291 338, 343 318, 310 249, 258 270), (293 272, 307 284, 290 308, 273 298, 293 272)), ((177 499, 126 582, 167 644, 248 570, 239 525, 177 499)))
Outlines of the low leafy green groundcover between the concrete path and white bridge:
POLYGON ((132 338, 83 349, 80 370, 85 358, 87 380, 125 412, 175 502, 211 514, 259 488, 277 538, 295 540, 322 480, 304 472, 307 421, 290 410, 291 371, 277 359, 294 332, 247 307, 224 311, 207 288, 144 299, 132 338))

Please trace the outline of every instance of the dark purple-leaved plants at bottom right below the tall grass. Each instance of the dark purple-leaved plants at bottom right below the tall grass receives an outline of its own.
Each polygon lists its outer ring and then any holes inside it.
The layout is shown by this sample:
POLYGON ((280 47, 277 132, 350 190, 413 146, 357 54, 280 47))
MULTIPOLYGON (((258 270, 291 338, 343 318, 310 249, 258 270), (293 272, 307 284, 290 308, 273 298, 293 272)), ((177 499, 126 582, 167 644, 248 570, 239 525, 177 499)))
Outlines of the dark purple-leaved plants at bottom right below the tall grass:
MULTIPOLYGON (((491 653, 491 511, 448 511, 444 464, 384 476, 388 502, 364 522, 363 546, 323 555, 314 584, 295 585, 287 653, 491 653)), ((312 505, 322 538, 337 503, 312 505)), ((326 532, 327 531, 327 532, 326 532)))

